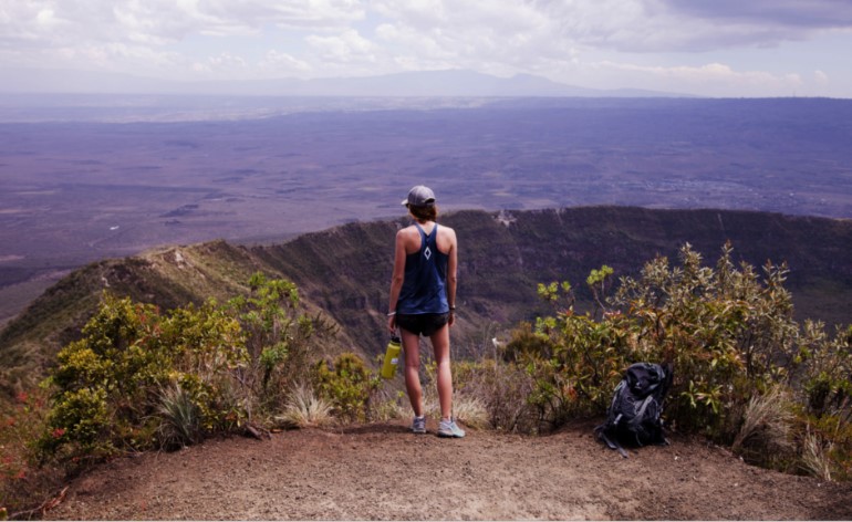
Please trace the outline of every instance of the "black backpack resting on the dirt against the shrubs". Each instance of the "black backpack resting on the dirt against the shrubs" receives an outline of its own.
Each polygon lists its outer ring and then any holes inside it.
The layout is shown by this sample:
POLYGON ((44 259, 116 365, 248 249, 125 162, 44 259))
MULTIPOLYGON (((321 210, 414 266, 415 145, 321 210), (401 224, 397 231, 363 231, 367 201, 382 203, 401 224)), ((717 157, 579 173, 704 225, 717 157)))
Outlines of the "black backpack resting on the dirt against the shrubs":
POLYGON ((672 365, 636 363, 624 372, 606 410, 606 421, 594 429, 611 449, 627 458, 625 446, 667 445, 663 436, 663 400, 672 386, 672 365))

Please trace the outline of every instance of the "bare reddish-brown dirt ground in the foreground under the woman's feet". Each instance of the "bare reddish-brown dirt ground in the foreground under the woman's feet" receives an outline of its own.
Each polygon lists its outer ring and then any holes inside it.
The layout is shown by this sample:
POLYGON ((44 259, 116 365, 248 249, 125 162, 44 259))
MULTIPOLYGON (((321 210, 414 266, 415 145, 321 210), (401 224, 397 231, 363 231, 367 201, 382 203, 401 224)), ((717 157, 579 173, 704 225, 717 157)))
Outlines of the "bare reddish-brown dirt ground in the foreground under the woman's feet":
POLYGON ((415 436, 404 421, 210 440, 76 479, 51 519, 850 520, 852 484, 748 466, 706 442, 603 447, 546 437, 415 436))

